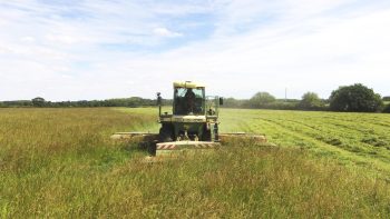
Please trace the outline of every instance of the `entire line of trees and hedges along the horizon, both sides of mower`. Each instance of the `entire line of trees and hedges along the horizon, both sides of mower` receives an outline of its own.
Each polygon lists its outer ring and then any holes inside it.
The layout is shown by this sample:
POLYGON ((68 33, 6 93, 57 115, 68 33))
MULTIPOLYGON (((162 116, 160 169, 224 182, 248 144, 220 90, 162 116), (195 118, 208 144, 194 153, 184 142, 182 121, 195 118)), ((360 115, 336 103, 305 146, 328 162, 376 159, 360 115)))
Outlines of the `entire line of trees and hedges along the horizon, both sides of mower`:
MULTIPOLYGON (((164 99, 164 106, 170 106, 172 99, 164 99)), ((152 107, 155 99, 139 97, 108 100, 46 101, 41 97, 32 100, 2 101, 0 107, 152 107)), ((276 99, 269 92, 257 92, 250 99, 226 98, 225 108, 277 109, 277 110, 316 110, 344 112, 390 112, 390 97, 381 98, 372 89, 355 83, 333 90, 328 99, 321 99, 315 92, 306 92, 300 100, 276 99)))

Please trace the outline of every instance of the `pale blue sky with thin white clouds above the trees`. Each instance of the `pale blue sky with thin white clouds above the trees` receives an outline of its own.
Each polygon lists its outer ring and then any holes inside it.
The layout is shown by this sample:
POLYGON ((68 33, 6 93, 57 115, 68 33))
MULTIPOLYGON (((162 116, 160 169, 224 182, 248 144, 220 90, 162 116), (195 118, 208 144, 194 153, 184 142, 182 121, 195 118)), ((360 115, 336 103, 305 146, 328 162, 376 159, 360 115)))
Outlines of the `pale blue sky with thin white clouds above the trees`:
POLYGON ((390 96, 390 1, 0 0, 0 100, 390 96))

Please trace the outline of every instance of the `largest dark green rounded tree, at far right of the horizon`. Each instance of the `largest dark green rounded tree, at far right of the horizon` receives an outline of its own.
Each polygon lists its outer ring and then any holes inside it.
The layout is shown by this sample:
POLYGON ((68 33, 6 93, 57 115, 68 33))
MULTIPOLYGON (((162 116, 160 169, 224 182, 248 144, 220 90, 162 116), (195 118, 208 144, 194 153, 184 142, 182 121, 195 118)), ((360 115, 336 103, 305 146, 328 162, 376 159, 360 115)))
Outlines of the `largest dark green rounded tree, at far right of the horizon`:
POLYGON ((340 87, 330 97, 330 109, 333 111, 374 112, 382 104, 380 94, 361 83, 340 87))

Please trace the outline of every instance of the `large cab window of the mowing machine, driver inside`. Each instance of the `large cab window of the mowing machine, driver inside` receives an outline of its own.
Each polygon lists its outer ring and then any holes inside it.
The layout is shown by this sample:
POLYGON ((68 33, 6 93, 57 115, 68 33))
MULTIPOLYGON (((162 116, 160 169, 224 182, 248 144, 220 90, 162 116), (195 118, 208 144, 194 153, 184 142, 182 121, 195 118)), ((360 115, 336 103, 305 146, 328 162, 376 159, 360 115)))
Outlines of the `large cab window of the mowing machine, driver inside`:
POLYGON ((204 88, 175 88, 175 115, 204 115, 204 88))

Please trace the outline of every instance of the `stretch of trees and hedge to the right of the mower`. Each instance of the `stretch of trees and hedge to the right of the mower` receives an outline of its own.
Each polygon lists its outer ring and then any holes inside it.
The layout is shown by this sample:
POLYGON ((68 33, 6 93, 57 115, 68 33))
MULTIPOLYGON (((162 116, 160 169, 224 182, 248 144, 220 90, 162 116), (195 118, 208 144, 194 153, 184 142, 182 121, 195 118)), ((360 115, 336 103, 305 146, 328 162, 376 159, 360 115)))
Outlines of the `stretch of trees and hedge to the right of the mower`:
POLYGON ((328 99, 321 99, 315 92, 306 92, 301 100, 276 99, 269 92, 257 92, 251 99, 225 99, 227 108, 316 110, 341 112, 390 112, 390 97, 381 98, 372 89, 355 83, 333 90, 328 99))

